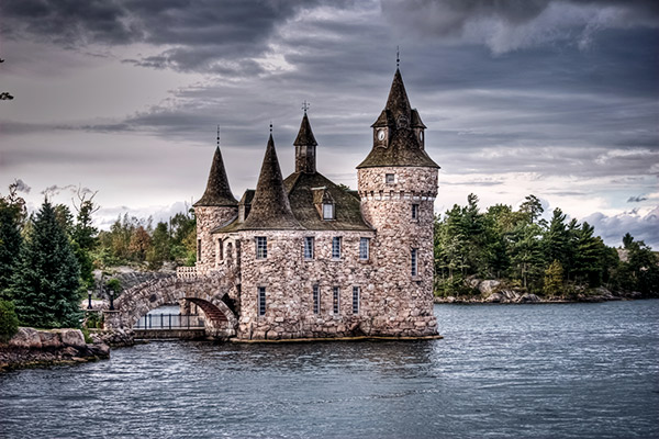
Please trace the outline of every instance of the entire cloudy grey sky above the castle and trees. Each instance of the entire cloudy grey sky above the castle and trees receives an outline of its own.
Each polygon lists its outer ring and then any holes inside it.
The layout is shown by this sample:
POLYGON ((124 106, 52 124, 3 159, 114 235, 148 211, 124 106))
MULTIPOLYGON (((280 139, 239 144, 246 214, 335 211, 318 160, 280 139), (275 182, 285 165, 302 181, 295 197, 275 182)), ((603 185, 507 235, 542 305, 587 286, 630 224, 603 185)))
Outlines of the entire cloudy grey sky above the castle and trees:
POLYGON ((239 199, 270 122, 293 171, 303 101, 319 171, 356 188, 398 47, 437 214, 534 194, 659 249, 658 43, 654 0, 2 0, 0 194, 166 218, 202 195, 220 125, 239 199))

